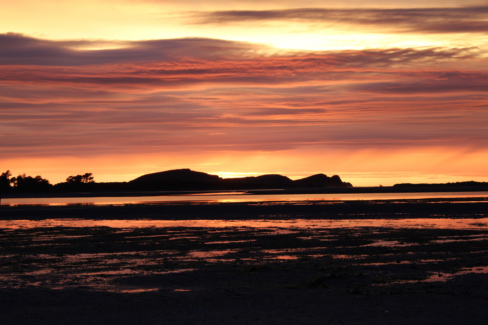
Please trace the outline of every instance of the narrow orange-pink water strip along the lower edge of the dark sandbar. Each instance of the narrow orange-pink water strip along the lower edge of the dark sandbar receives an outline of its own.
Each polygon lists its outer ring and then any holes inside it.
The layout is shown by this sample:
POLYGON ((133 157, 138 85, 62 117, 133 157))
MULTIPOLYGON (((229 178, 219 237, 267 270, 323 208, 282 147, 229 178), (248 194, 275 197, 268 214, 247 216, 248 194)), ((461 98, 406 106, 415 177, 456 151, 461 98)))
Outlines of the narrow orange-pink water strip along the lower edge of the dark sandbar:
MULTIPOLYGON (((351 219, 351 220, 85 220, 85 219, 46 219, 0 220, 0 229, 20 229, 35 227, 237 227, 265 228, 282 231, 282 228, 351 228, 351 227, 390 227, 390 228, 434 228, 434 229, 488 229, 488 218, 419 218, 419 219, 351 219)), ((175 237, 185 238, 185 237, 175 237)))

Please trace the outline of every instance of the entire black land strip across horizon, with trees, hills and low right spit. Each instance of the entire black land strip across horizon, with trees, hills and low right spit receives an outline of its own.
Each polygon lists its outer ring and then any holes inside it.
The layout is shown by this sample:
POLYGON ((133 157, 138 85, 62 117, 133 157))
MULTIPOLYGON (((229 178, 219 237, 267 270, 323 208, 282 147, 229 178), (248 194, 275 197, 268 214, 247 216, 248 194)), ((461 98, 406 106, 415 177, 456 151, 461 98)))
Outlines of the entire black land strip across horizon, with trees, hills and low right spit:
MULTIPOLYGON (((0 175, 0 193, 5 195, 163 195, 178 192, 199 191, 246 191, 249 194, 299 194, 299 193, 394 193, 394 192, 448 192, 448 191, 488 191, 488 182, 455 182, 443 184, 395 184, 393 186, 353 187, 343 182, 339 175, 315 174, 292 180, 279 174, 222 178, 188 168, 164 172, 153 172, 139 176, 128 182, 95 182, 92 173, 72 175, 65 182, 52 185, 41 176, 25 174, 12 176, 10 171, 0 175), (100 192, 103 192, 100 193, 100 192), (52 194, 50 194, 52 193, 52 194), (55 194, 57 193, 57 194, 55 194), (73 193, 73 194, 69 194, 73 193), (99 193, 99 194, 96 194, 99 193), (158 194, 159 193, 159 194, 158 194)), ((47 196, 46 196, 47 195, 47 196)))

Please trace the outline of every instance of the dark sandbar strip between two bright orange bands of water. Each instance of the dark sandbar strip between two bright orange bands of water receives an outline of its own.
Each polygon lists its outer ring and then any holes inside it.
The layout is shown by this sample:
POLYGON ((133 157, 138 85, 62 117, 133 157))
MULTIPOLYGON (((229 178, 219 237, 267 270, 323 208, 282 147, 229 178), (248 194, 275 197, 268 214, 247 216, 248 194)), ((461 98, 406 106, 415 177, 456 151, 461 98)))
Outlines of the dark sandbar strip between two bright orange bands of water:
POLYGON ((384 219, 384 218, 485 218, 487 198, 374 200, 344 202, 238 202, 66 206, 1 206, 1 220, 155 219, 155 220, 252 220, 252 219, 384 219))

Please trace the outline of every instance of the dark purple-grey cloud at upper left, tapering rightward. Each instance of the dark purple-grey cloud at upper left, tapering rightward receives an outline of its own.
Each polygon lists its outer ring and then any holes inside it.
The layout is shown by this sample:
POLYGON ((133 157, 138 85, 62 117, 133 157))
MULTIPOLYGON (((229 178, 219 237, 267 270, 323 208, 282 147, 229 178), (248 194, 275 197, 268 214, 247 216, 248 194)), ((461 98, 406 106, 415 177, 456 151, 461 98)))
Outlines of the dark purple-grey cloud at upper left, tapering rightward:
POLYGON ((213 38, 140 41, 48 40, 18 33, 0 34, 0 65, 72 66, 134 61, 171 61, 179 57, 234 57, 261 49, 246 42, 213 38), (91 50, 110 45, 118 48, 91 50))

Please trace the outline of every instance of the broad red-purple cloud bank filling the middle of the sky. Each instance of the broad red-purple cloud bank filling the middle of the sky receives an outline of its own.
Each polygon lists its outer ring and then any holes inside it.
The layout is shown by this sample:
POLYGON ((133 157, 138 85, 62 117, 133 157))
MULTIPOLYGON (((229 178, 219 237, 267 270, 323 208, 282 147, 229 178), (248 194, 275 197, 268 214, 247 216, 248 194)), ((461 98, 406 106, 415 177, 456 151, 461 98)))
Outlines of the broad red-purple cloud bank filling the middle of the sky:
POLYGON ((476 49, 0 39, 3 155, 488 146, 476 49))

